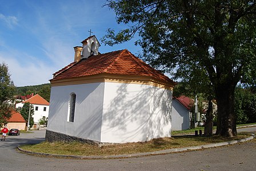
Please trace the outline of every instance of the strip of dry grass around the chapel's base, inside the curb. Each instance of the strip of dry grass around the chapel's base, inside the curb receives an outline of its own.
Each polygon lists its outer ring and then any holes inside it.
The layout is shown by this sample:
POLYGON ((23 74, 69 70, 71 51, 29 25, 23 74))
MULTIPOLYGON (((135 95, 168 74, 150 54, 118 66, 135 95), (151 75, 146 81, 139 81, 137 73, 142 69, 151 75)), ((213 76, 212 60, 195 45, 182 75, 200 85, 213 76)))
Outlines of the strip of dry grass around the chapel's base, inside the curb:
MULTIPOLYGON (((89 145, 78 142, 73 143, 48 143, 22 145, 23 150, 38 153, 74 155, 74 156, 109 156, 119 154, 134 154, 143 152, 153 152, 157 150, 183 148, 187 146, 205 145, 211 143, 221 143, 231 140, 239 140, 249 137, 249 133, 239 133, 237 137, 223 138, 219 136, 200 137, 200 136, 179 136, 153 139, 142 143, 125 143, 112 145, 89 145)), ((251 140, 255 141, 255 139, 251 140)))

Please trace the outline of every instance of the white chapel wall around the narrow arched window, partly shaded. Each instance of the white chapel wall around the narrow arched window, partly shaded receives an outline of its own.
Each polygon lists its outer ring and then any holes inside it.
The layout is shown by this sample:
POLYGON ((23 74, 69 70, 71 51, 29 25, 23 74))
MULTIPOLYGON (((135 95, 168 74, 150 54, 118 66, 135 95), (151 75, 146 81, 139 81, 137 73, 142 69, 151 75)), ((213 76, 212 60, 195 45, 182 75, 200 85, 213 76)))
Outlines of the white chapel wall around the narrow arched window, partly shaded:
POLYGON ((47 129, 100 141, 103 91, 104 83, 52 87, 47 129), (76 94, 74 122, 67 121, 71 93, 76 94))

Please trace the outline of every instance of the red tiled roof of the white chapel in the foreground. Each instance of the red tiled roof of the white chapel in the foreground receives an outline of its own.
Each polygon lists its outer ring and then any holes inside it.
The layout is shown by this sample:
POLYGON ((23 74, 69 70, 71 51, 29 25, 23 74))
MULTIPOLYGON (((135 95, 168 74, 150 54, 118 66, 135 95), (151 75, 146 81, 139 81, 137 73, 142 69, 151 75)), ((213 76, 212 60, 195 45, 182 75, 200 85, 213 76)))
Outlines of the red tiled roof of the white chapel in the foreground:
POLYGON ((114 74, 126 76, 147 76, 151 79, 168 82, 175 85, 173 80, 161 72, 150 67, 148 64, 137 58, 128 50, 113 51, 106 54, 89 56, 79 62, 70 63, 54 73, 52 80, 78 78, 97 74, 114 74))

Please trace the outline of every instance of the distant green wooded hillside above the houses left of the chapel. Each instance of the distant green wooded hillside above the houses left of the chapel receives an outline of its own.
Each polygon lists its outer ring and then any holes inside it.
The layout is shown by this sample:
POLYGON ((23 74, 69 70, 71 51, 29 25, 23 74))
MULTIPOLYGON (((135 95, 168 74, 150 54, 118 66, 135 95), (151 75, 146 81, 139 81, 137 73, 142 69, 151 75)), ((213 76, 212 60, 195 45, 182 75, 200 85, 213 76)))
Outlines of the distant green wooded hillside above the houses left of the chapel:
POLYGON ((50 101, 51 94, 51 84, 41 84, 35 86, 23 86, 16 87, 15 95, 30 95, 31 93, 38 94, 43 97, 43 99, 50 101))

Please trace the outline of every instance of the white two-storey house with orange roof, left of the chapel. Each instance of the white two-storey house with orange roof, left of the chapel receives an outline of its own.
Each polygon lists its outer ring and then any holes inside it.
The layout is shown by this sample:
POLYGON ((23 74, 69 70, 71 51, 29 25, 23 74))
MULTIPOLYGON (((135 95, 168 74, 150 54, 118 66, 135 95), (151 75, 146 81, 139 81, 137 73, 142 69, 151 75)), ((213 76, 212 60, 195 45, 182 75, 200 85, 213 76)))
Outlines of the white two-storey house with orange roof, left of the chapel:
POLYGON ((50 103, 43 99, 40 95, 34 95, 29 99, 16 104, 16 108, 21 109, 25 103, 30 103, 34 107, 34 127, 32 129, 37 129, 40 127, 39 120, 47 118, 49 115, 49 105, 50 103))

